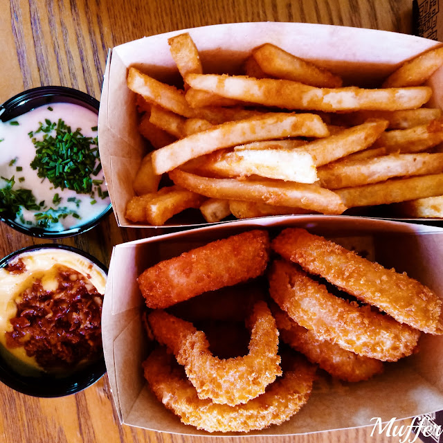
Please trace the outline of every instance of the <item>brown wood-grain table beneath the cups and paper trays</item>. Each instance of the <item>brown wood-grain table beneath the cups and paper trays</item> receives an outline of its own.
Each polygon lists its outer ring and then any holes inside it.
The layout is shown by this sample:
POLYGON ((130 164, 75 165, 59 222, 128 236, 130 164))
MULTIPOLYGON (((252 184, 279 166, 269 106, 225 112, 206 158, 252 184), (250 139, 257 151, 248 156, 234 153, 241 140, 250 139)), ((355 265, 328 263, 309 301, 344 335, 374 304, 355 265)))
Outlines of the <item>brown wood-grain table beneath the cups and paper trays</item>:
MULTIPOLYGON (((42 85, 62 85, 100 100, 108 48, 181 28, 238 21, 305 21, 411 31, 411 0, 0 0, 0 102, 42 85)), ((0 226, 0 257, 44 243, 0 226)), ((114 215, 83 235, 57 241, 109 264, 114 244, 152 235, 118 228, 114 215)), ((159 233, 157 230, 156 233, 159 233)), ((206 442, 120 426, 107 377, 76 395, 37 399, 0 386, 1 442, 206 442)), ((403 424, 408 422, 402 422, 403 424)), ((278 442, 398 442, 370 436, 371 428, 297 437, 278 442)), ((233 439, 228 438, 229 441, 233 439)), ((246 441, 245 438, 239 441, 246 441)), ((264 442, 255 437, 248 442, 264 442)), ((226 441, 226 440, 225 440, 226 441)))

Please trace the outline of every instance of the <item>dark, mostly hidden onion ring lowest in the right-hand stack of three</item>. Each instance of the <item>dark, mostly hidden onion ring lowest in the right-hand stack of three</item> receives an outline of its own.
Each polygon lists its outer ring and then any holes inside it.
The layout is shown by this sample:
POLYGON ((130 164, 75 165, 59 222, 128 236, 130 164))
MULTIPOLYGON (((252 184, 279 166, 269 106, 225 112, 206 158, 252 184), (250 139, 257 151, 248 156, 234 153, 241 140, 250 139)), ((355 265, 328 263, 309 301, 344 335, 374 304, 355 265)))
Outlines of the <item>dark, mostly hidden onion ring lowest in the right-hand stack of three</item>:
POLYGON ((345 381, 363 381, 383 372, 381 361, 354 354, 318 338, 314 331, 298 325, 278 306, 273 305, 272 313, 282 341, 305 354, 311 363, 318 363, 320 368, 334 377, 345 381))

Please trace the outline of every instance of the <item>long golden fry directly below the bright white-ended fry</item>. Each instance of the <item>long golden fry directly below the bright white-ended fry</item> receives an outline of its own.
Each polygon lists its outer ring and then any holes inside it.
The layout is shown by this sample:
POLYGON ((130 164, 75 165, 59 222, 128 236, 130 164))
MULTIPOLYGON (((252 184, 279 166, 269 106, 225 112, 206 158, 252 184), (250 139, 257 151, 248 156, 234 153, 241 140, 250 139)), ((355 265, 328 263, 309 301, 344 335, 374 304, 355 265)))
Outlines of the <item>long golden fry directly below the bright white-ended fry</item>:
POLYGON ((215 199, 258 201, 323 214, 341 214, 346 209, 335 192, 311 184, 278 180, 209 179, 179 169, 171 171, 170 178, 183 188, 215 199))

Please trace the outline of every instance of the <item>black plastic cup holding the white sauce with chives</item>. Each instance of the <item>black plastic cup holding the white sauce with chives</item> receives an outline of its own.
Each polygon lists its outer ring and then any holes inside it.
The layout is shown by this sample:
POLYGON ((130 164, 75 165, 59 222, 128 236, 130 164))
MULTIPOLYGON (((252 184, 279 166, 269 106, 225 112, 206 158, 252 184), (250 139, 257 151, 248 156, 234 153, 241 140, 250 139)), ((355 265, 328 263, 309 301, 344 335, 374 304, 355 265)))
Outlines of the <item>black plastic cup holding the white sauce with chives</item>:
MULTIPOLYGON (((87 93, 78 91, 77 89, 66 88, 62 86, 44 86, 34 89, 28 89, 27 91, 17 94, 0 105, 0 120, 7 122, 26 114, 28 111, 43 106, 50 105, 51 103, 67 102, 74 105, 80 105, 90 111, 95 112, 98 115, 98 109, 100 102, 95 98, 89 96, 87 93)), ((0 145, 1 147, 1 145, 0 145)), ((8 224, 11 228, 18 230, 26 235, 32 235, 33 237, 40 238, 63 238, 78 235, 92 229, 94 226, 111 213, 112 206, 109 206, 95 218, 91 219, 87 223, 76 226, 75 228, 69 228, 66 230, 46 230, 44 228, 38 228, 36 226, 23 226, 15 221, 15 215, 6 215, 0 213, 0 220, 8 224)))

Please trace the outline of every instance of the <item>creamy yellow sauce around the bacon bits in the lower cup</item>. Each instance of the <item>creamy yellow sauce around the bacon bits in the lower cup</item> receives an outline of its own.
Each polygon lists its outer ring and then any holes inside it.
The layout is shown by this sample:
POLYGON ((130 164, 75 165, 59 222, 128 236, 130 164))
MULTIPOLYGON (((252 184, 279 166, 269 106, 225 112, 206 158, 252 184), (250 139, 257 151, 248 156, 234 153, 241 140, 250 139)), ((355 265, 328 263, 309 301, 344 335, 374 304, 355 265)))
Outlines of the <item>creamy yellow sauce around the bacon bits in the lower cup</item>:
POLYGON ((33 285, 37 279, 42 280, 44 289, 54 290, 57 288, 57 266, 64 265, 78 271, 86 277, 91 284, 96 287, 100 294, 105 293, 106 274, 96 264, 90 262, 82 255, 71 251, 64 251, 57 248, 42 248, 37 251, 30 251, 14 257, 11 262, 21 258, 26 266, 26 271, 22 273, 10 273, 6 269, 0 269, 0 354, 6 356, 6 352, 12 356, 12 363, 17 370, 19 364, 24 363, 28 368, 42 370, 34 357, 26 355, 23 347, 6 348, 6 332, 12 331, 10 318, 17 314, 17 297, 26 289, 33 285), (7 351, 6 351, 7 349, 7 351), (6 352, 5 352, 6 351, 6 352))

